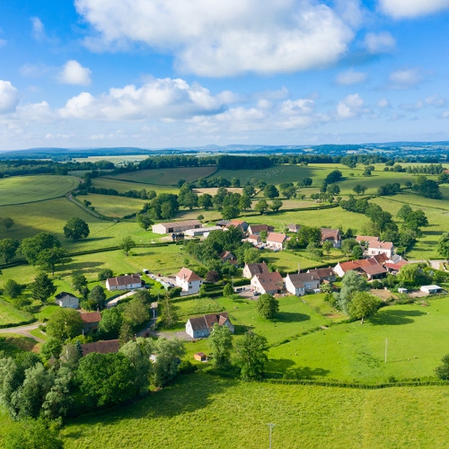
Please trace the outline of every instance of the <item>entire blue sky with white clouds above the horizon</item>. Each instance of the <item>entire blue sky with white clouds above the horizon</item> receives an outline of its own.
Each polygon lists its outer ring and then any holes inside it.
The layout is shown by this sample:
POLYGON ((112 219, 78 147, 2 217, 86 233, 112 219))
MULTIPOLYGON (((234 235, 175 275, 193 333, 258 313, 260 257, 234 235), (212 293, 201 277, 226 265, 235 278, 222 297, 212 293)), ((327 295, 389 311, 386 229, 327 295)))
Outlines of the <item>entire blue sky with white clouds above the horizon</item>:
POLYGON ((0 150, 449 140, 449 0, 0 0, 0 150))

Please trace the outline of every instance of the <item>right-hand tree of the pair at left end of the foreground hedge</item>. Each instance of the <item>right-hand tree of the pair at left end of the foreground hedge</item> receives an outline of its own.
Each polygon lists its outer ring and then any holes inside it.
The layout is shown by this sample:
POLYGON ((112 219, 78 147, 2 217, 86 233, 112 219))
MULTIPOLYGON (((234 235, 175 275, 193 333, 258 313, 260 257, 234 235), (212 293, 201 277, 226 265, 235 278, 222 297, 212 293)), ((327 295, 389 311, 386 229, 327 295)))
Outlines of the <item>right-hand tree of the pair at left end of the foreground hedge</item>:
POLYGON ((265 337, 248 331, 235 343, 235 363, 241 368, 245 381, 260 379, 268 361, 268 341, 265 337))

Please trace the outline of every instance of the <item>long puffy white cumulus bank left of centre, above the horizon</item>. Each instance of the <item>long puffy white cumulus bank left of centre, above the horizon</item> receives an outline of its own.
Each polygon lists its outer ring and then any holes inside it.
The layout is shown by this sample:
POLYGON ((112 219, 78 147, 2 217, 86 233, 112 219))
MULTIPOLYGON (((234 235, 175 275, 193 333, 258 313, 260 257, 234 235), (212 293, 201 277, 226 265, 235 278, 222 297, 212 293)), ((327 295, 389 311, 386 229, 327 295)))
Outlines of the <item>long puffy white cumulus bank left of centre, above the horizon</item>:
POLYGON ((140 88, 133 84, 111 88, 97 96, 82 92, 68 100, 60 114, 62 117, 101 120, 180 119, 217 113, 226 101, 231 100, 231 92, 214 96, 199 84, 164 78, 148 81, 140 88))

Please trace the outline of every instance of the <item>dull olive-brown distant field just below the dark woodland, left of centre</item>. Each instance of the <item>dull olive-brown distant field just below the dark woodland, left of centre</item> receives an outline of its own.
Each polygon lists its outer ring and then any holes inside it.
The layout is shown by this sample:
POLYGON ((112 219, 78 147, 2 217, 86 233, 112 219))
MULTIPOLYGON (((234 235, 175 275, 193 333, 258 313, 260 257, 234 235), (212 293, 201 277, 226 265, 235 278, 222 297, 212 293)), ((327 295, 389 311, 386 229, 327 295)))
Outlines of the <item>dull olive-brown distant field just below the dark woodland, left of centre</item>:
POLYGON ((131 180, 143 182, 145 184, 155 184, 159 186, 177 186, 179 180, 193 182, 199 178, 206 178, 216 172, 215 166, 207 167, 180 167, 172 169, 152 169, 138 172, 121 173, 108 176, 114 180, 131 180))

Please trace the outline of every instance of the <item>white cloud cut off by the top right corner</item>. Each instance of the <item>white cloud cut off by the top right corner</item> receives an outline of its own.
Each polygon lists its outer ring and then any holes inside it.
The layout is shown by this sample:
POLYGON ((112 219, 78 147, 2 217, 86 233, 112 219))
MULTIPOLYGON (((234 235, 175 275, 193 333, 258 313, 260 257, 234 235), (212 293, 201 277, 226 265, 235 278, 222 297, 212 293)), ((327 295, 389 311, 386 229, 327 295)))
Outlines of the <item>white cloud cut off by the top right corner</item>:
POLYGON ((379 0, 379 6, 394 19, 403 19, 449 9, 449 0, 379 0))

